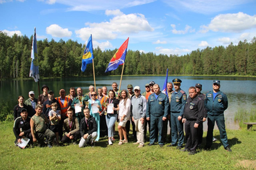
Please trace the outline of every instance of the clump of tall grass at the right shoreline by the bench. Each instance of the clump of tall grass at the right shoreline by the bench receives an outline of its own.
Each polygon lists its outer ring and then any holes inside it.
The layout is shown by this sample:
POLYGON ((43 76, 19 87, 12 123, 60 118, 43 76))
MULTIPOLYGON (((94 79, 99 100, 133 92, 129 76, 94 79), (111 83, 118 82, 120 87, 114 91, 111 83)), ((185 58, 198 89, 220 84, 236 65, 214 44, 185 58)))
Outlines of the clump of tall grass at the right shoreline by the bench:
POLYGON ((246 110, 240 108, 234 115, 234 120, 239 121, 240 128, 246 128, 244 122, 256 122, 256 108, 250 108, 246 110))

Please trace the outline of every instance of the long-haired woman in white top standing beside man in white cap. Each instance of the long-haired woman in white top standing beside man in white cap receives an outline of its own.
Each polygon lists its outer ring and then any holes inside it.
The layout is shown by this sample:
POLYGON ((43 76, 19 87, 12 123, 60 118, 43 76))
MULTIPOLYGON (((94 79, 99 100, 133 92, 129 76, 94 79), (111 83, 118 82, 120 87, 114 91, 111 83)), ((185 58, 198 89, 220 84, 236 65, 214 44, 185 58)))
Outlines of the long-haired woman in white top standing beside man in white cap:
POLYGON ((119 101, 119 144, 128 143, 126 135, 127 120, 130 120, 130 99, 128 98, 127 91, 123 90, 121 91, 121 99, 119 101))

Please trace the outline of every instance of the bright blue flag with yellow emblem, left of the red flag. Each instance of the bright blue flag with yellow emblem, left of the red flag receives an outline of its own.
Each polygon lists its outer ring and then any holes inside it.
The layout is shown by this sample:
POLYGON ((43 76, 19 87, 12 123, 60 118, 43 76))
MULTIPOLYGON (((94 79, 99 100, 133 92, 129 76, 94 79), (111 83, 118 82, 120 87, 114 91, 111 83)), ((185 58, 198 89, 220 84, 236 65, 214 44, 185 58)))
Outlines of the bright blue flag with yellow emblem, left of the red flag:
POLYGON ((81 70, 84 72, 87 64, 92 63, 94 59, 93 48, 92 48, 92 35, 89 37, 87 46, 85 46, 85 52, 83 53, 82 67, 81 70))

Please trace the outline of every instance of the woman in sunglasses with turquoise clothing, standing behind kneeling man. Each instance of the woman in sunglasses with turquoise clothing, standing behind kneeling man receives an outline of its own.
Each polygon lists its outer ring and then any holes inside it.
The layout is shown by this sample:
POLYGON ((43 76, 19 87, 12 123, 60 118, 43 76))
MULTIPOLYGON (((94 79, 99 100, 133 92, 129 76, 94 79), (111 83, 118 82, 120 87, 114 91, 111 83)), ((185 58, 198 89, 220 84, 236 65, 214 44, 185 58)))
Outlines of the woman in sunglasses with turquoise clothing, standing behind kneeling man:
POLYGON ((97 123, 97 133, 98 133, 98 136, 95 140, 95 142, 98 142, 99 141, 99 136, 100 136, 100 111, 101 111, 101 102, 96 99, 96 92, 93 91, 91 92, 91 99, 88 100, 89 102, 89 106, 86 106, 89 108, 89 115, 92 115, 92 117, 95 118, 96 120, 96 123, 97 123))

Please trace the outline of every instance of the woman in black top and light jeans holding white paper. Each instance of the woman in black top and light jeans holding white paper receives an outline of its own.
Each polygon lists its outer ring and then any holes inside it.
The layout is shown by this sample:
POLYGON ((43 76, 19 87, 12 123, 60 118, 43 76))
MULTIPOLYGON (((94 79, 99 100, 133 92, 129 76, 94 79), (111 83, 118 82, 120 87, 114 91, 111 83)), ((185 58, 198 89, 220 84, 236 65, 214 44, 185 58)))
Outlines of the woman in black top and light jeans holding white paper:
MULTIPOLYGON (((116 99, 113 90, 108 92, 107 100, 107 115, 105 115, 105 120, 108 126, 108 144, 112 145, 112 138, 114 138, 114 123, 117 121, 117 111, 119 111, 119 100, 116 99)), ((105 108, 106 109, 106 108, 105 108)))

